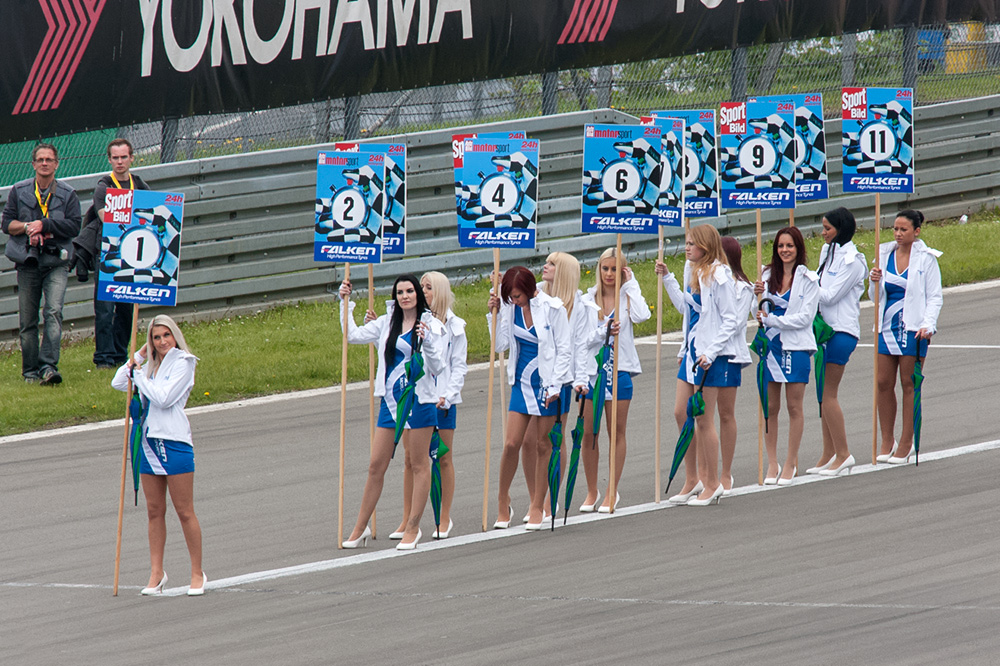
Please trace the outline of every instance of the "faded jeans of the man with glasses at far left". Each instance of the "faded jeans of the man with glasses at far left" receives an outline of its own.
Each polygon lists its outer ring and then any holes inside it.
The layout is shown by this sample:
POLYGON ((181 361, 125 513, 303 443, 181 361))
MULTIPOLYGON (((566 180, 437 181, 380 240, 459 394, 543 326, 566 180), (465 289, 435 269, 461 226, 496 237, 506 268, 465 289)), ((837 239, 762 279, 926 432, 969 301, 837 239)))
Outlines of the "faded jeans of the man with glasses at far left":
POLYGON ((21 374, 37 379, 45 368, 58 370, 62 340, 62 305, 69 273, 65 266, 17 267, 17 304, 21 326, 21 374), (42 297, 45 305, 42 307, 42 297), (42 309, 42 344, 38 344, 38 311, 42 309))

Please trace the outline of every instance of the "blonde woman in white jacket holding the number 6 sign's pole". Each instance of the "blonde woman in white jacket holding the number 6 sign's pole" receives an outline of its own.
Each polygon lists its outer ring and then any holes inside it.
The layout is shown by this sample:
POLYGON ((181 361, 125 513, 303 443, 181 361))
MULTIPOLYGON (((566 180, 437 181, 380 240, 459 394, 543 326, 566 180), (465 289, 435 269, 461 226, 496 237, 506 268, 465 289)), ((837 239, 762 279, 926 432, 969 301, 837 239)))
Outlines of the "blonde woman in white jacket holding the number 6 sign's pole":
MULTIPOLYGON (((628 410, 632 404, 632 377, 642 372, 639 364, 639 354, 635 350, 635 337, 632 332, 634 324, 639 324, 650 317, 649 306, 642 297, 639 282, 628 267, 625 256, 616 257, 616 248, 608 248, 601 253, 597 262, 596 284, 587 290, 583 296, 581 315, 585 319, 585 331, 582 337, 576 338, 581 344, 583 354, 578 358, 584 363, 582 372, 587 377, 590 387, 587 402, 583 408, 584 428, 580 457, 583 459, 583 471, 587 478, 587 498, 580 506, 580 511, 593 511, 600 500, 597 487, 597 467, 600 460, 600 449, 595 445, 594 436, 594 400, 604 400, 604 424, 608 437, 611 436, 611 397, 613 357, 609 355, 605 362, 606 381, 604 386, 595 386, 597 381, 597 361, 595 356, 600 351, 606 337, 608 320, 615 319, 611 327, 611 335, 618 336, 618 414, 615 428, 615 488, 621 481, 622 470, 625 467, 625 454, 628 445, 625 432, 628 427, 628 410), (619 302, 623 315, 615 317, 615 272, 620 271, 619 302), (589 325, 588 325, 589 322, 589 325)), ((612 351, 614 347, 612 346, 612 351)), ((621 495, 615 491, 614 505, 617 507, 621 495)), ((604 502, 597 507, 600 513, 610 513, 611 498, 605 497, 604 502)))

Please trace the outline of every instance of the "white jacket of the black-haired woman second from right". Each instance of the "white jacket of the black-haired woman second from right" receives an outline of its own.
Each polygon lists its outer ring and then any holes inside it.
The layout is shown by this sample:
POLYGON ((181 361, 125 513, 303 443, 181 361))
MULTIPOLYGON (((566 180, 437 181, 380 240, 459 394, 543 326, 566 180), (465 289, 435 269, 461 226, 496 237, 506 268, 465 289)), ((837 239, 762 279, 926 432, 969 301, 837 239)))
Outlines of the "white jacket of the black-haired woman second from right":
MULTIPOLYGON (((823 266, 830 245, 823 245, 819 252, 819 265, 823 266)), ((865 291, 865 257, 847 241, 833 251, 833 260, 823 266, 819 275, 819 312, 835 331, 861 337, 861 294, 865 291)))

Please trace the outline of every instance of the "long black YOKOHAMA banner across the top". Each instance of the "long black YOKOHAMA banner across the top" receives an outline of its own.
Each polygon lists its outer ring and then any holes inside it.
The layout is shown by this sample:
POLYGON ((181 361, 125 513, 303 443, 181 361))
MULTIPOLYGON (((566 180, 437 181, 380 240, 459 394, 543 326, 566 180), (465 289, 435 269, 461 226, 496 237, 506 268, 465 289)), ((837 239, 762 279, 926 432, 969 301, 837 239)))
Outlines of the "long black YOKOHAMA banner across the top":
POLYGON ((0 142, 998 16, 1000 0, 4 0, 0 142))

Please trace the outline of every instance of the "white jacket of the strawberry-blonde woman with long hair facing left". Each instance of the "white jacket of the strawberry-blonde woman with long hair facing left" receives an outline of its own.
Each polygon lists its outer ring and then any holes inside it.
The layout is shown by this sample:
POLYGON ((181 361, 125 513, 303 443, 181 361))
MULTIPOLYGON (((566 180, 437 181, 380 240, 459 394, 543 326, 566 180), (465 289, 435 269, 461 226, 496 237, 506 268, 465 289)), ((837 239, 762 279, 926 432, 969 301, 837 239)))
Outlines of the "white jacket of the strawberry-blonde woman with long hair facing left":
MULTIPOLYGON (((677 283, 673 273, 667 273, 661 279, 667 288, 670 302, 674 304, 683 317, 682 330, 684 344, 677 353, 683 358, 688 353, 688 344, 694 342, 698 356, 704 356, 709 363, 714 363, 719 356, 731 356, 734 362, 742 358, 746 352, 746 330, 740 335, 740 312, 736 298, 736 281, 733 272, 725 264, 716 261, 712 264, 712 273, 706 282, 701 283, 701 315, 698 318, 698 328, 695 339, 689 339, 688 305, 684 291, 691 283, 690 261, 684 262, 684 289, 677 283)), ((747 361, 749 363, 749 360, 747 361)))

